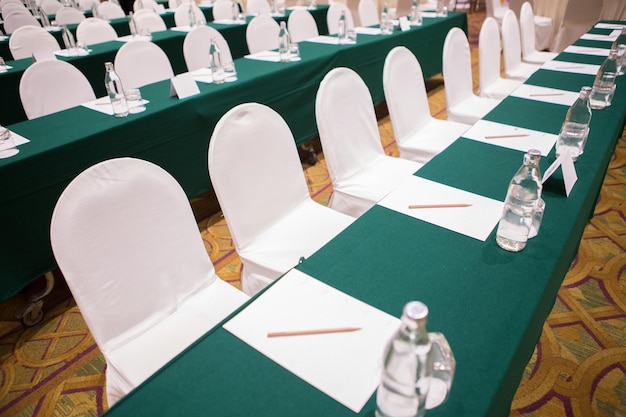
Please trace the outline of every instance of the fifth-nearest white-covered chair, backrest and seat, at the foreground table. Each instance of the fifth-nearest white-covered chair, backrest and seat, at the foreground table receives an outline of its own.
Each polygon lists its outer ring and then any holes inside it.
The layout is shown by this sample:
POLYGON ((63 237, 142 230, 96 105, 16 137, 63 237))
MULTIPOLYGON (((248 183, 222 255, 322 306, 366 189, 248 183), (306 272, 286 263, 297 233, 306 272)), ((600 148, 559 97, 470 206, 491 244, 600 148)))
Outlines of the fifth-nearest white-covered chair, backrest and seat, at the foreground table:
POLYGON ((499 103, 474 94, 469 42, 460 28, 450 29, 443 44, 443 81, 448 120, 471 125, 499 103))

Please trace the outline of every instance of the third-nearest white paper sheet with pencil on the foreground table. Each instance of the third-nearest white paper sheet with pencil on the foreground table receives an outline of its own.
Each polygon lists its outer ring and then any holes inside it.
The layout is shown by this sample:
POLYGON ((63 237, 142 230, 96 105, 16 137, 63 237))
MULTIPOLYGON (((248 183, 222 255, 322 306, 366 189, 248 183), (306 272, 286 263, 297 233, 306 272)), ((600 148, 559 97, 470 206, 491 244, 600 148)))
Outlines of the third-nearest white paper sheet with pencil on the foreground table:
POLYGON ((556 143, 557 135, 525 129, 502 123, 479 120, 465 133, 464 138, 490 143, 504 148, 527 152, 529 149, 538 149, 541 155, 546 156, 556 143), (491 136, 528 135, 521 137, 491 138, 491 136))

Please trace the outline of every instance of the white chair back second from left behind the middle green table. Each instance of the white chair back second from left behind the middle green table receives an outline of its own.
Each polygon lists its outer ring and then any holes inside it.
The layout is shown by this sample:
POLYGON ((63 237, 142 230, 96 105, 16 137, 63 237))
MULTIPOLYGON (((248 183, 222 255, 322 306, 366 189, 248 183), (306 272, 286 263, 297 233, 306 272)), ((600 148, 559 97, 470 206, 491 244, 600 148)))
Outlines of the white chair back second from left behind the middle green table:
POLYGON ((115 71, 124 88, 139 88, 174 76, 167 55, 148 41, 127 42, 115 55, 115 71))

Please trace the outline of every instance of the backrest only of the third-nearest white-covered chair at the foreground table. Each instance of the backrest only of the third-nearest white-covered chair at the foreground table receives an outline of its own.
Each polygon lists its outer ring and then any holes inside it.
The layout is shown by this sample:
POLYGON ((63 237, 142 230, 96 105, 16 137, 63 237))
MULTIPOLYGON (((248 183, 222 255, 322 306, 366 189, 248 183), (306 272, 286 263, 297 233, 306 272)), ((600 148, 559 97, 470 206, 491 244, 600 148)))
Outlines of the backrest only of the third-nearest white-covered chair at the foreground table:
POLYGON ((372 96, 353 70, 339 67, 326 74, 315 98, 315 119, 333 183, 384 156, 372 96))

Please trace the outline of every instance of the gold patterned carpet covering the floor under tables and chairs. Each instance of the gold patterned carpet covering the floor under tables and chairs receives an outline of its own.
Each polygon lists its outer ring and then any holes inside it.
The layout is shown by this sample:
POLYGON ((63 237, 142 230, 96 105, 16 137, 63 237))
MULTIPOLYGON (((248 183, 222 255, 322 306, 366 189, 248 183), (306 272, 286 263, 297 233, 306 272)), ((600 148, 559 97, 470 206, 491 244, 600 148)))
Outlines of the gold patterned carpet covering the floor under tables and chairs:
MULTIPOLYGON (((483 18, 470 15, 474 69, 483 18)), ((429 80, 428 87, 432 112, 445 118, 441 78, 429 80)), ((385 149, 397 155, 389 119, 384 108, 378 110, 385 149)), ((326 203, 332 188, 323 155, 316 165, 303 167, 311 195, 326 203)), ((626 416, 625 197, 626 135, 526 367, 511 417, 626 416)), ((194 200, 194 207, 210 206, 207 200, 194 200)), ((218 275, 238 287, 241 264, 221 214, 198 226, 218 275)), ((104 360, 62 278, 46 298, 44 321, 28 329, 14 319, 24 297, 0 304, 0 416, 102 414, 107 409, 104 360)))

